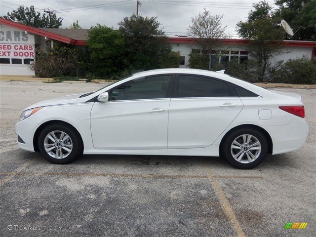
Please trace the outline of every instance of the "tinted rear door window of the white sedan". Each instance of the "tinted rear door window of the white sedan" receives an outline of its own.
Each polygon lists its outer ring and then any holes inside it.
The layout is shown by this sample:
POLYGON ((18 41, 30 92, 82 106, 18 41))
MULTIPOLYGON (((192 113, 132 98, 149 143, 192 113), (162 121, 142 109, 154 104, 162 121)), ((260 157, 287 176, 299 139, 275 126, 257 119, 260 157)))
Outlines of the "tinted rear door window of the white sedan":
POLYGON ((179 75, 178 98, 234 96, 226 82, 210 77, 179 75))

